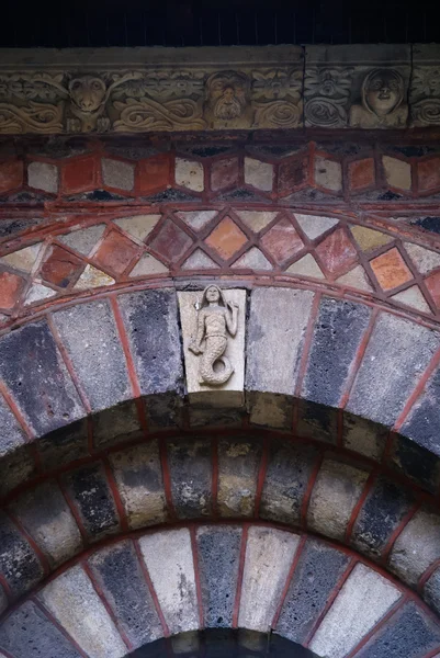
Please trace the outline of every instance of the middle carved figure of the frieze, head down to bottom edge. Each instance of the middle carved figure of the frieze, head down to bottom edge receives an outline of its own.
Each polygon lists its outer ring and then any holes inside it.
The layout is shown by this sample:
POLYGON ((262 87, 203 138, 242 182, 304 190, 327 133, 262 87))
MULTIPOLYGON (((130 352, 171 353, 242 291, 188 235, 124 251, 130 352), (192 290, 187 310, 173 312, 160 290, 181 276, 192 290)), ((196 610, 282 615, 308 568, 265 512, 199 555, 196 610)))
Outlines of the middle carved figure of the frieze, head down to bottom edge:
POLYGON ((249 128, 253 118, 249 78, 236 71, 210 76, 204 116, 210 128, 249 128))

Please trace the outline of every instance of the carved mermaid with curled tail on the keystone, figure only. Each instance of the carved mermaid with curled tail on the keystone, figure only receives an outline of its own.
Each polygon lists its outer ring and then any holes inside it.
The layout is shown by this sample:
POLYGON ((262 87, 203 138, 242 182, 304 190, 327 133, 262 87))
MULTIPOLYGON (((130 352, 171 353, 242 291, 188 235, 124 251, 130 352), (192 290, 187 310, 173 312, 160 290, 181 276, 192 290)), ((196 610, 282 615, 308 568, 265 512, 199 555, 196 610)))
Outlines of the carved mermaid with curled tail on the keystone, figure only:
POLYGON ((198 309, 196 337, 189 345, 191 352, 201 354, 200 384, 219 386, 234 373, 234 366, 224 353, 228 333, 233 338, 237 333, 237 319, 238 305, 227 302, 218 286, 208 285, 203 291, 202 303, 198 309), (223 364, 218 372, 215 370, 217 362, 223 364))

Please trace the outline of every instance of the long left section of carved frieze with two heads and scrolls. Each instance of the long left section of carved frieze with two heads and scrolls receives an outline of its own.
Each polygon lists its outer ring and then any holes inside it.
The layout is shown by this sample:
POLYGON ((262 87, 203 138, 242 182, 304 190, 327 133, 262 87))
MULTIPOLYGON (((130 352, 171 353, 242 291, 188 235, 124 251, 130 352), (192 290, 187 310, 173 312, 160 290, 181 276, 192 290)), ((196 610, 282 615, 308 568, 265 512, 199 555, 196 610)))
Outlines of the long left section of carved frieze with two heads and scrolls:
POLYGON ((0 52, 0 133, 302 127, 303 49, 0 52))

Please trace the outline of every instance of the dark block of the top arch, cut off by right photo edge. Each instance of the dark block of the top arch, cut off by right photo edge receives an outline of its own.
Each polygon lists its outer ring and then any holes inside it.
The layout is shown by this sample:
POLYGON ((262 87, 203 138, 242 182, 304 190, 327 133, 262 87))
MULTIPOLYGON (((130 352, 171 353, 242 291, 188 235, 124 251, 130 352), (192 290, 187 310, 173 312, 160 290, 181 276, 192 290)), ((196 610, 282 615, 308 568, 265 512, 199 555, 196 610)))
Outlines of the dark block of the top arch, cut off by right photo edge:
POLYGON ((440 370, 429 379, 402 433, 440 456, 440 370))

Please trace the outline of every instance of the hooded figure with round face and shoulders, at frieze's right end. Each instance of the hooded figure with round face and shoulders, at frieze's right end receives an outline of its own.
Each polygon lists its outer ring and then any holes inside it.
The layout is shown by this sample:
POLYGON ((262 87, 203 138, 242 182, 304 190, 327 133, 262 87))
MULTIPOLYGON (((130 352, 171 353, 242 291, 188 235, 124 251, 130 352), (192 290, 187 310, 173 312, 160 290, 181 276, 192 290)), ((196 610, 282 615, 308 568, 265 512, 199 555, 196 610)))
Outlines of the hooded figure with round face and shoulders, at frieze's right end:
POLYGON ((361 103, 350 110, 356 128, 402 128, 408 117, 405 82, 398 71, 373 69, 362 83, 361 103))

